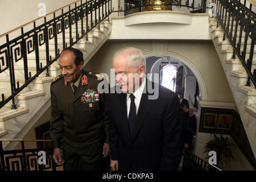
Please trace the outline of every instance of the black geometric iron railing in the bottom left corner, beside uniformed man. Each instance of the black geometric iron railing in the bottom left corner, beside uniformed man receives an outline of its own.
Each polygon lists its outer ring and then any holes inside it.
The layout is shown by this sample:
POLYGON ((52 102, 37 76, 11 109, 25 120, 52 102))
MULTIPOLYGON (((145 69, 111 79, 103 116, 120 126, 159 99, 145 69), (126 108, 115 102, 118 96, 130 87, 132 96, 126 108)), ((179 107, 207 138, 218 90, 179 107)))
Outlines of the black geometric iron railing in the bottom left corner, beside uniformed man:
POLYGON ((52 159, 53 148, 42 143, 52 140, 0 140, 1 171, 56 171, 61 170, 52 159), (18 142, 16 150, 3 150, 3 143, 18 142), (32 147, 31 147, 31 143, 32 147), (25 145, 28 144, 28 147, 25 145), (35 144, 37 145, 35 147, 35 144), (44 158, 45 157, 45 158, 44 158))

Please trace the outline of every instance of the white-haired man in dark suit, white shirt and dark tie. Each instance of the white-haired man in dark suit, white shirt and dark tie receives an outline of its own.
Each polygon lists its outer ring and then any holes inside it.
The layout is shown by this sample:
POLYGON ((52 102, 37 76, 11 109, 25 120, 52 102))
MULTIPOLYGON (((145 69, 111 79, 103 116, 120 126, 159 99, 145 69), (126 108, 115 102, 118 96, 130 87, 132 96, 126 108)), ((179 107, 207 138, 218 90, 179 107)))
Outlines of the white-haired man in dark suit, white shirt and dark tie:
POLYGON ((112 88, 108 101, 110 166, 114 171, 176 170, 182 156, 184 121, 179 98, 147 80, 145 65, 142 51, 136 48, 124 48, 114 55, 119 85, 112 88), (152 84, 158 94, 154 100, 149 93, 152 84), (120 89, 122 93, 114 93, 120 89))

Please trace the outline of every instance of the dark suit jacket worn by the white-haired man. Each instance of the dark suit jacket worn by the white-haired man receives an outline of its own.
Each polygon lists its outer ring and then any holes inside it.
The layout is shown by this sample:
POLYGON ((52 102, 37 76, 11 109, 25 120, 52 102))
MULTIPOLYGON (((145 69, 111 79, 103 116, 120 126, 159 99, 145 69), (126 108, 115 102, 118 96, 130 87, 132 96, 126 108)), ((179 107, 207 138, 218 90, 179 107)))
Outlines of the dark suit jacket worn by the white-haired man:
MULTIPOLYGON (((147 80, 146 80, 147 82, 147 80)), ((148 81, 147 84, 152 84, 148 81)), ((142 93, 134 124, 129 133, 126 93, 109 94, 109 144, 112 160, 118 160, 118 170, 176 170, 184 146, 183 111, 177 94, 159 86, 159 97, 148 100, 142 93)))

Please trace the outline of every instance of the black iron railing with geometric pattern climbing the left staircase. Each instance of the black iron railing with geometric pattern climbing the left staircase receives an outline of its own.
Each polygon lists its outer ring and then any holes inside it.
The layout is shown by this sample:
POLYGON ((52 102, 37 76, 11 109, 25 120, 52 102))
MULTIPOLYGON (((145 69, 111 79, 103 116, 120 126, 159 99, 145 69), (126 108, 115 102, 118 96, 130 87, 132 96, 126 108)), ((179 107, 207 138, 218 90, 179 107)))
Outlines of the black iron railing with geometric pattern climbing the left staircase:
MULTIPOLYGON (((10 76, 11 96, 2 94, 0 108, 12 100, 12 109, 16 109, 14 97, 24 89, 31 81, 46 71, 49 76, 49 65, 59 58, 61 50, 72 47, 79 40, 86 37, 88 32, 97 27, 100 29, 102 20, 109 18, 112 10, 111 0, 81 0, 65 6, 51 14, 44 16, 43 23, 34 20, 33 27, 24 31, 25 26, 16 28, 15 31, 7 32, 0 36, 5 37, 5 43, 0 46, 0 73, 10 76), (80 5, 77 5, 80 2, 80 5), (74 6, 71 9, 71 6, 74 6), (64 11, 64 9, 68 9, 64 11), (59 14, 59 15, 57 15, 59 14), (47 17, 53 15, 49 20, 47 17), (11 39, 10 34, 18 32, 19 36, 11 39), (32 59, 31 59, 32 57, 32 59), (24 83, 21 85, 16 78, 16 68, 23 61, 24 83), (28 69, 35 65, 36 72, 31 74, 28 69), (7 98, 5 98, 7 97, 7 98)), ((48 17, 49 18, 49 17, 48 17)), ((30 23, 31 24, 31 23, 30 23)))

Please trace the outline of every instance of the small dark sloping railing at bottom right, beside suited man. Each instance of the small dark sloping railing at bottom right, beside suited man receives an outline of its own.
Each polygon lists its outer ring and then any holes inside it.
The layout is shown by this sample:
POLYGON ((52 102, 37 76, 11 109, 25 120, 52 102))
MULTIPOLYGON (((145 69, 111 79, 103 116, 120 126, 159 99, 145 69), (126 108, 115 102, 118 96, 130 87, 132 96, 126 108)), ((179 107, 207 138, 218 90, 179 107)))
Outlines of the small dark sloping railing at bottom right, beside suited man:
POLYGON ((222 171, 209 164, 206 160, 199 158, 191 152, 184 150, 182 171, 222 171))

